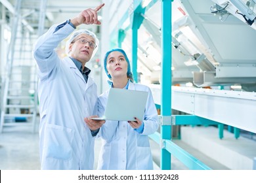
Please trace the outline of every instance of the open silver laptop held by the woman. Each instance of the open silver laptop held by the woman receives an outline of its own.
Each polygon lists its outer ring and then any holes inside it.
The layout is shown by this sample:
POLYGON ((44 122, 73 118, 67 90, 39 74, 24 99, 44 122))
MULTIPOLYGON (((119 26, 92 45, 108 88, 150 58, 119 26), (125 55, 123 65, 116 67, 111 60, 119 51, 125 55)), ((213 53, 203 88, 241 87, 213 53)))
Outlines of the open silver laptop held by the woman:
POLYGON ((143 120, 148 92, 110 88, 104 116, 93 120, 135 121, 143 120))

